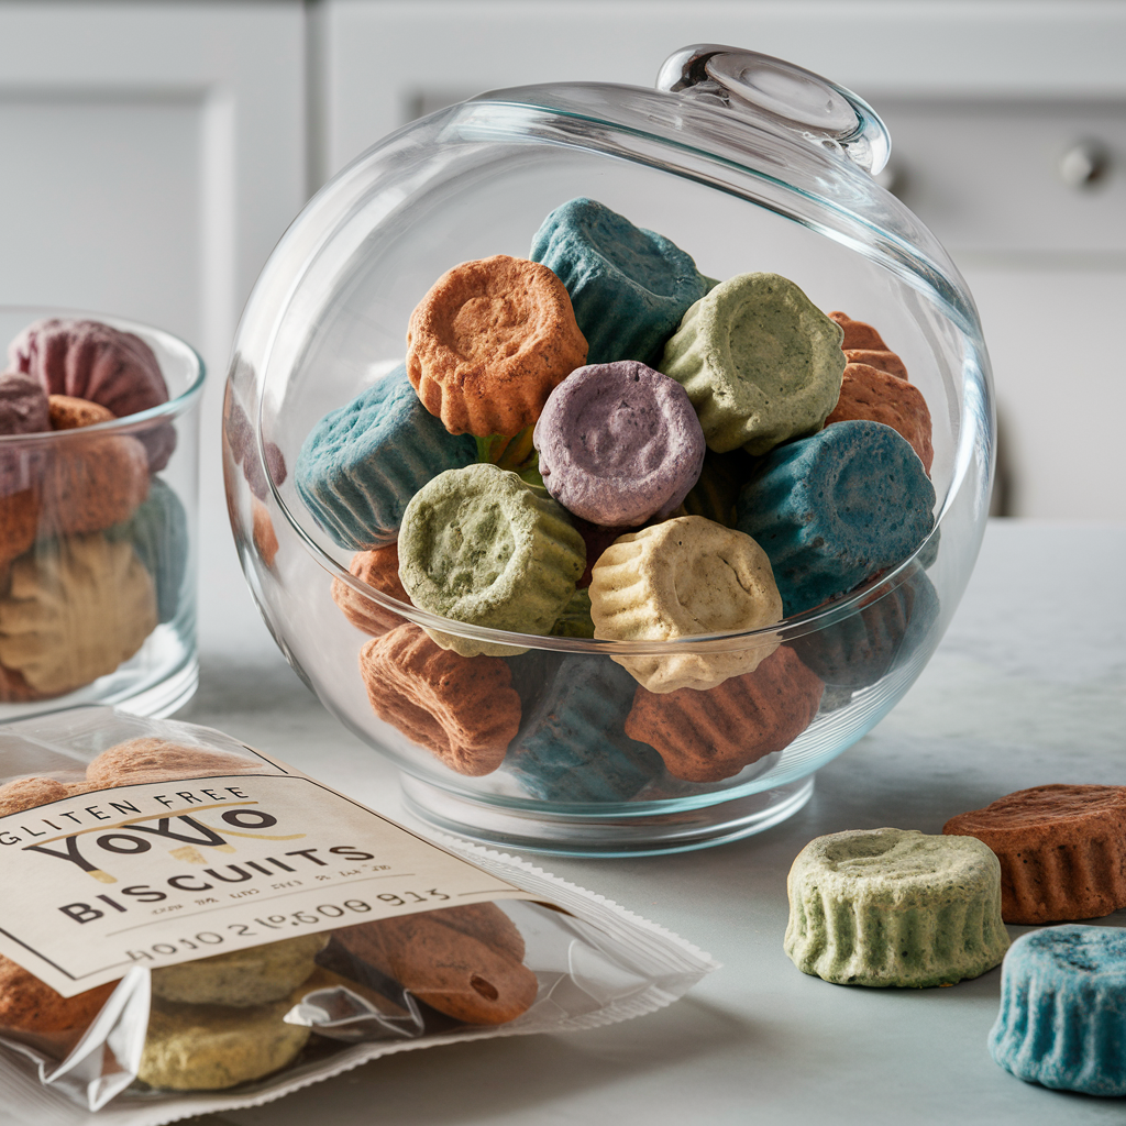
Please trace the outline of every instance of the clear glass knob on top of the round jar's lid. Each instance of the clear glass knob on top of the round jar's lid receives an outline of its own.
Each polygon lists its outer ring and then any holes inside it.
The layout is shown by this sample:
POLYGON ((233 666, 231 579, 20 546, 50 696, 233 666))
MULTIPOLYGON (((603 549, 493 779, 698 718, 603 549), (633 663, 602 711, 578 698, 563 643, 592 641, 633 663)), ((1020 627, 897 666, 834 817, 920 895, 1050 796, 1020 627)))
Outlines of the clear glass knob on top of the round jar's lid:
POLYGON ((718 44, 681 47, 664 61, 656 88, 766 119, 873 175, 891 153, 887 127, 863 98, 771 55, 718 44))

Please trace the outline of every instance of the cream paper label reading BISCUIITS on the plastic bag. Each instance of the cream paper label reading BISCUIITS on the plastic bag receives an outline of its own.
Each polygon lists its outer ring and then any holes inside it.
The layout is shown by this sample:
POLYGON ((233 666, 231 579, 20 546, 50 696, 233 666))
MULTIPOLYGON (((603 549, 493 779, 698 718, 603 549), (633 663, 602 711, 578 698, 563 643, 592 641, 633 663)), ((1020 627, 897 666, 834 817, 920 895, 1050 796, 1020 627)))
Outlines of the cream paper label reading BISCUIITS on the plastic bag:
POLYGON ((535 899, 274 767, 116 786, 0 817, 0 953, 73 997, 134 965, 535 899))

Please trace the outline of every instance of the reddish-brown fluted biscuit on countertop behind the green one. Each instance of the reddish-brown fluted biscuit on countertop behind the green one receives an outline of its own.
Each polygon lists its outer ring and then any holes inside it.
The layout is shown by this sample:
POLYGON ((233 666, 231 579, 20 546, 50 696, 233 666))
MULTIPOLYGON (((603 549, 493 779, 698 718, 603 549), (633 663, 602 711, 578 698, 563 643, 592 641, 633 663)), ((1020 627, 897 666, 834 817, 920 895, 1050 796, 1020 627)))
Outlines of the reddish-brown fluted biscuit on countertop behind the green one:
POLYGON ((1036 786, 950 817, 1001 861, 1006 922, 1097 919, 1126 908, 1126 786, 1036 786))

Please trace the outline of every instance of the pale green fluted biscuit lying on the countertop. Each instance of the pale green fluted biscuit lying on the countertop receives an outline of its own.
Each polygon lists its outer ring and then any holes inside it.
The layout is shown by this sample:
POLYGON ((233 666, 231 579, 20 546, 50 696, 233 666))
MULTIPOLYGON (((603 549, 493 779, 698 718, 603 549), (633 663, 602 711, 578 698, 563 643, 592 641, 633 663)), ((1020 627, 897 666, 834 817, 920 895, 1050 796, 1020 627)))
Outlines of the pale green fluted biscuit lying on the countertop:
POLYGON ((839 985, 951 985, 992 969, 1009 947, 1001 866, 973 837, 819 837, 798 854, 787 887, 786 954, 839 985))

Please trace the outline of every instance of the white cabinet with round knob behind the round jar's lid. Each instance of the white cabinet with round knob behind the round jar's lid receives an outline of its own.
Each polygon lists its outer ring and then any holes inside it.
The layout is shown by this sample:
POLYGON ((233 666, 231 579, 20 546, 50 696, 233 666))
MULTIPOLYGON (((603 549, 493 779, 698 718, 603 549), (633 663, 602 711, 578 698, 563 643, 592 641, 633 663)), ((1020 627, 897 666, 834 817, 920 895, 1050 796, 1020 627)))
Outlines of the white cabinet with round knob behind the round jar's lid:
POLYGON ((322 175, 482 90, 651 86, 690 43, 780 55, 851 87, 886 117, 897 190, 977 298, 1009 511, 1126 520, 1126 5, 325 0, 319 20, 322 175), (1090 140, 1108 172, 1069 186, 1060 161, 1090 140))

